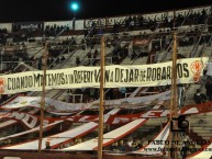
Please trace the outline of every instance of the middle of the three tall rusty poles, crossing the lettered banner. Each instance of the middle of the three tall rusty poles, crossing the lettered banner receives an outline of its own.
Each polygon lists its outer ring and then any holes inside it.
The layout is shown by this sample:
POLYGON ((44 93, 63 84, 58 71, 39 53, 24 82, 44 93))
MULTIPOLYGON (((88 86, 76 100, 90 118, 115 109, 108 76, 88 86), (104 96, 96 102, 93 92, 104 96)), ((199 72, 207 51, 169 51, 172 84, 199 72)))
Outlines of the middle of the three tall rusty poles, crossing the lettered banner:
POLYGON ((104 112, 104 36, 101 35, 101 75, 100 75, 100 106, 99 106, 99 134, 98 134, 98 159, 102 159, 103 143, 103 112, 104 112))

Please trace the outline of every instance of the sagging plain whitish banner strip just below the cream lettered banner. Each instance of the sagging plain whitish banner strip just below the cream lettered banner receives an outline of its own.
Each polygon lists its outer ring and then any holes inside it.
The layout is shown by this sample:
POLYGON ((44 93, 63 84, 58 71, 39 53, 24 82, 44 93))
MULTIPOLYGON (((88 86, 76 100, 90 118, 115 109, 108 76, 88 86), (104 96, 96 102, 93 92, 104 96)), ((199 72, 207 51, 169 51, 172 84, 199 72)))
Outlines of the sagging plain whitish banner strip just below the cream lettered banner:
MULTIPOLYGON (((170 99, 170 91, 161 92, 154 95, 138 96, 138 98, 125 98, 119 100, 105 100, 105 109, 114 107, 134 107, 140 105, 148 105, 156 101, 166 101, 170 99)), ((20 109, 25 106, 41 107, 41 96, 18 96, 11 102, 2 105, 1 109, 20 109)), ((99 109, 100 101, 93 101, 91 103, 65 103, 54 99, 45 98, 45 111, 49 113, 57 113, 57 115, 66 115, 66 113, 72 113, 75 111, 82 111, 87 109, 99 109)), ((4 114, 2 114, 3 116, 4 114)), ((69 115, 69 114, 67 114, 69 115)), ((1 116, 0 116, 1 117, 1 116)))

